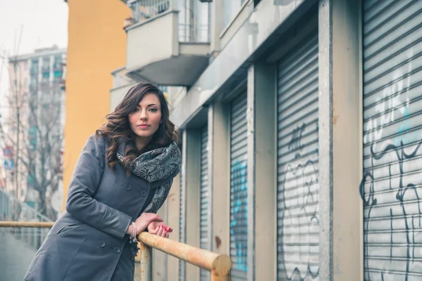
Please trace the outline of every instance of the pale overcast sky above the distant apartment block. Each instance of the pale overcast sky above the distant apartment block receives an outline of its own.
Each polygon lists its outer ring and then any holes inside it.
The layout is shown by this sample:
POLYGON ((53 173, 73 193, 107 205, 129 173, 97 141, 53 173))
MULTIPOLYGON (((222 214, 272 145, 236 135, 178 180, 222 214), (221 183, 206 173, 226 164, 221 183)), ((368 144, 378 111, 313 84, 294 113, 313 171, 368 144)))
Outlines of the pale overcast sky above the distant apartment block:
MULTIPOLYGON (((65 1, 0 0, 0 50, 16 55, 54 44, 60 48, 68 46, 68 4, 65 1)), ((8 89, 6 72, 4 67, 0 68, 1 97, 8 89)), ((0 113, 2 107, 4 98, 0 98, 0 113)))

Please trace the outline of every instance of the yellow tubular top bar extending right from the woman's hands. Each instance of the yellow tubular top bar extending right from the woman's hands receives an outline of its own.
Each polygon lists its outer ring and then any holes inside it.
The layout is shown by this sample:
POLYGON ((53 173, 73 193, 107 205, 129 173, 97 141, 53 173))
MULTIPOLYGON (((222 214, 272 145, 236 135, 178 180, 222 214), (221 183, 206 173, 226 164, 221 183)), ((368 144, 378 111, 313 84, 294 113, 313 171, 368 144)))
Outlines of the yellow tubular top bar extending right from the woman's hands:
POLYGON ((191 263, 194 266, 210 270, 217 277, 229 276, 231 269, 231 259, 229 256, 192 247, 151 233, 141 233, 139 235, 139 241, 166 254, 170 254, 177 259, 191 263))

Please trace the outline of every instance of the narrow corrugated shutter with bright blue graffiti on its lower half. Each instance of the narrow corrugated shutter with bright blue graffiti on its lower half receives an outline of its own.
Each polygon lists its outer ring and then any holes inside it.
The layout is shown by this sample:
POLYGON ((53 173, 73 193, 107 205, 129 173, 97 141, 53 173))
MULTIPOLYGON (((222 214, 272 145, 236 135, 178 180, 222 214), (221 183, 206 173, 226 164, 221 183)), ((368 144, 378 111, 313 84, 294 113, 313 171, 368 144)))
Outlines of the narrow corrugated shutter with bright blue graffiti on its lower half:
POLYGON ((231 280, 247 280, 248 272, 248 142, 247 97, 231 102, 230 257, 231 280))

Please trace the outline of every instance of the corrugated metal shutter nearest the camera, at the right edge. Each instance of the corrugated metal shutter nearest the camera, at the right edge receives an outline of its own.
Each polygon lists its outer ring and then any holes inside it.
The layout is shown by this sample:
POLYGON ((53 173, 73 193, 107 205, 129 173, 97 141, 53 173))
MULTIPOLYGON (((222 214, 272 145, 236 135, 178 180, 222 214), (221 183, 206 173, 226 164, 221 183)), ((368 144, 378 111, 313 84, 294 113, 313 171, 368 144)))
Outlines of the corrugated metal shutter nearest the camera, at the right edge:
POLYGON ((364 280, 422 280, 422 1, 364 1, 364 280))

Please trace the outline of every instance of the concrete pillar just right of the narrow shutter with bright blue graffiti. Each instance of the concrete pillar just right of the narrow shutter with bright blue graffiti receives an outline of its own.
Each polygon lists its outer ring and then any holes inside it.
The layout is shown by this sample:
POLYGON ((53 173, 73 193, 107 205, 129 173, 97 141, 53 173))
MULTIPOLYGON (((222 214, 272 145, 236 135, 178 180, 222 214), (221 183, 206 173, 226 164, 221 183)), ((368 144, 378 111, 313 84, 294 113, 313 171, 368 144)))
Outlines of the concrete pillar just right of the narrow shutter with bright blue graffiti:
POLYGON ((275 64, 255 63, 248 70, 249 280, 276 280, 276 100, 275 64))

